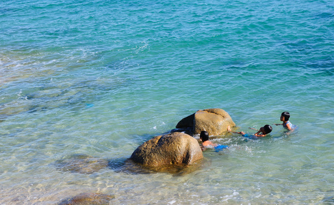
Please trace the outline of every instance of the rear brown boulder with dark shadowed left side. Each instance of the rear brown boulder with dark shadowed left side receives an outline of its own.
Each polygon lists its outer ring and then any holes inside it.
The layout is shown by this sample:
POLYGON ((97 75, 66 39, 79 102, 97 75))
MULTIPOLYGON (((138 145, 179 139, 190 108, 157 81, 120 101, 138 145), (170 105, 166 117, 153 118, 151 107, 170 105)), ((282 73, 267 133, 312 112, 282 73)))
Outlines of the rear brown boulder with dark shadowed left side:
POLYGON ((183 118, 176 128, 192 128, 193 134, 207 131, 209 135, 221 135, 227 131, 228 126, 235 126, 229 113, 223 109, 203 109, 183 118))

